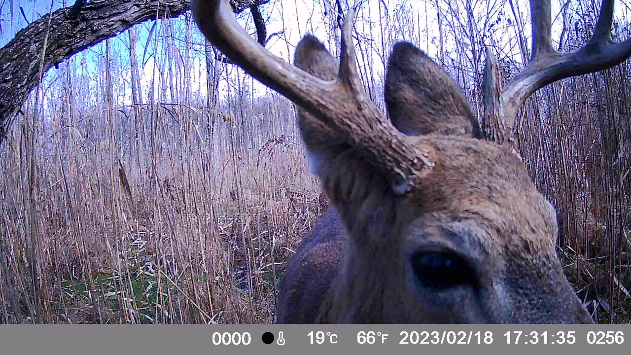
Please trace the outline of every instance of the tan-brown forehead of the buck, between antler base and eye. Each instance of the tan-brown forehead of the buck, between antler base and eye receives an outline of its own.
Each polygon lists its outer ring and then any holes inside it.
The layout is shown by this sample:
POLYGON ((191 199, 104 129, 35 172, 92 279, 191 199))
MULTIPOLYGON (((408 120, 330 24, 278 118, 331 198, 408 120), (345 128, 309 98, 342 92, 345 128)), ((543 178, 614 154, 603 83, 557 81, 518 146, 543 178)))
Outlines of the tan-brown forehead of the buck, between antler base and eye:
POLYGON ((553 250, 554 208, 538 193, 516 155, 468 138, 432 140, 438 162, 406 198, 411 219, 422 216, 456 233, 463 232, 459 223, 466 221, 475 226, 469 238, 479 239, 490 255, 510 251, 530 258, 553 250))

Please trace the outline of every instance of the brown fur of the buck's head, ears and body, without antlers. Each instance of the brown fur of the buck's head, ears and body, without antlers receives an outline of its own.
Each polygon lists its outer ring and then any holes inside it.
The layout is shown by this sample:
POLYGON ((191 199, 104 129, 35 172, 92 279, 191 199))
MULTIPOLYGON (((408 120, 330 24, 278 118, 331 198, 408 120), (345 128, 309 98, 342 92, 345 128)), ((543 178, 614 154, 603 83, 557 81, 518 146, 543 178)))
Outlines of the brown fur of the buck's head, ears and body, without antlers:
MULTIPOLYGON (((315 37, 295 64, 326 80, 337 61, 315 37)), ((583 323, 591 318, 554 249, 555 211, 511 152, 476 139, 468 103, 444 69, 411 44, 391 54, 392 123, 434 165, 393 192, 331 126, 299 110, 314 171, 334 205, 305 237, 281 281, 280 323, 583 323), (444 251, 475 270, 470 285, 436 291, 416 280, 415 253, 444 251)))

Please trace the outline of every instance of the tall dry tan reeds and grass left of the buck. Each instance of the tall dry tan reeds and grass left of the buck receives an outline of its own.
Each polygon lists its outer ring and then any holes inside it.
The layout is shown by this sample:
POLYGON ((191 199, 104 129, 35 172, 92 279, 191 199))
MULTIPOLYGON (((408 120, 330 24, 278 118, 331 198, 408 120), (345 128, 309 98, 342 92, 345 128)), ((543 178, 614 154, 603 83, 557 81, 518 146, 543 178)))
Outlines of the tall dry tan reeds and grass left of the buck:
MULTIPOLYGON (((230 124, 218 123, 218 141, 233 140, 230 124)), ((236 151, 204 160, 200 140, 152 155, 73 134, 30 154, 16 132, 0 172, 3 322, 272 322, 285 262, 326 208, 287 138, 295 127, 283 130, 250 162, 236 151)))

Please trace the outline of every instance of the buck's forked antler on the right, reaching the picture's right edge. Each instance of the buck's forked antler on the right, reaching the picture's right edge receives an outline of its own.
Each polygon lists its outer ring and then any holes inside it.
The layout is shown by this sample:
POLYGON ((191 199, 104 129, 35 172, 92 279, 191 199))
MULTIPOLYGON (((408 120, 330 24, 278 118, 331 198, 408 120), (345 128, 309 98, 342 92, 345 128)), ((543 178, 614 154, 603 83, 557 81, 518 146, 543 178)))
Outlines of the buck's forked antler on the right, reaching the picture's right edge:
POLYGON ((631 39, 613 42, 613 0, 603 0, 594 35, 585 47, 558 52, 552 47, 550 0, 530 0, 533 53, 528 66, 500 90, 497 59, 487 48, 484 70, 485 117, 482 130, 487 140, 512 144, 512 128, 519 107, 539 88, 570 76, 616 66, 631 56, 631 39))

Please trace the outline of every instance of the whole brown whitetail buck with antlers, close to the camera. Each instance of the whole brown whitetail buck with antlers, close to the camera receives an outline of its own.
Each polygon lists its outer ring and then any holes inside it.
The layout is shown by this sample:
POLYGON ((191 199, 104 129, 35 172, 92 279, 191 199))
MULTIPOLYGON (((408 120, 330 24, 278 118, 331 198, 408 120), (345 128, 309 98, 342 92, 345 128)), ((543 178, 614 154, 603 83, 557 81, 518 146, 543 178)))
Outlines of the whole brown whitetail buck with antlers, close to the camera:
POLYGON ((631 40, 611 40, 613 1, 603 2, 586 47, 560 53, 549 0, 531 0, 528 66, 500 89, 488 52, 482 131, 444 69, 405 42, 387 66, 387 119, 358 77, 352 12, 341 59, 307 35, 296 68, 251 39, 228 0, 194 0, 192 10, 212 44, 299 107, 312 167, 334 205, 289 262, 278 322, 592 321, 555 253, 555 210, 510 152, 510 132, 538 88, 629 56, 631 40))

